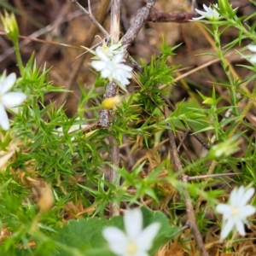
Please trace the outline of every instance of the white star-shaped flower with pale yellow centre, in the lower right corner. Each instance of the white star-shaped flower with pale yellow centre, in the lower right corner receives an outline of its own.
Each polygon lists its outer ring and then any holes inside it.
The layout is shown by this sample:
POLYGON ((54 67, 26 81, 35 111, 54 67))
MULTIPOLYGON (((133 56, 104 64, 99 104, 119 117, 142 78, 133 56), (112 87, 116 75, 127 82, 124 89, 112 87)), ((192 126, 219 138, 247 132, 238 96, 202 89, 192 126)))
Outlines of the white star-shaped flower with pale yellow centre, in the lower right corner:
POLYGON ((236 230, 241 236, 245 236, 244 224, 247 222, 247 217, 256 212, 255 207, 247 205, 247 201, 253 194, 253 188, 245 189, 241 186, 239 189, 232 190, 228 204, 219 204, 217 206, 216 211, 223 214, 220 240, 224 240, 231 230, 236 230))

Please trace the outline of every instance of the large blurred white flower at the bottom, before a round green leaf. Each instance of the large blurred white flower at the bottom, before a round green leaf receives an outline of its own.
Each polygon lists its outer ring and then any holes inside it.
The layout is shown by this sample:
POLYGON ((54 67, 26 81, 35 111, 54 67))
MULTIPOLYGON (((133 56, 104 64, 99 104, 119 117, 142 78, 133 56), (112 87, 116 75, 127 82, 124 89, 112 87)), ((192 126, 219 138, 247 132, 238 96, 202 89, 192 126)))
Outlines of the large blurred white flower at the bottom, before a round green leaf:
POLYGON ((150 224, 143 230, 143 213, 139 209, 125 212, 124 222, 125 232, 115 227, 103 230, 110 250, 119 256, 148 256, 160 223, 150 224))

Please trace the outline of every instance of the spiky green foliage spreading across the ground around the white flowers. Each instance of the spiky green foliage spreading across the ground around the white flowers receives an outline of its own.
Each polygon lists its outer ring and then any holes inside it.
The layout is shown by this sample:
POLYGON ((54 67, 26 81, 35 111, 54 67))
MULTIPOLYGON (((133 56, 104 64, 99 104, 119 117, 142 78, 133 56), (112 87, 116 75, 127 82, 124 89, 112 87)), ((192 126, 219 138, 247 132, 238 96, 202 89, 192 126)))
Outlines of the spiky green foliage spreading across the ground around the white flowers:
MULTIPOLYGON (((209 55, 218 57, 225 79, 212 78, 211 90, 198 90, 194 98, 176 102, 172 109, 164 96, 171 97, 176 86, 178 67, 170 67, 168 57, 174 55, 178 46, 169 47, 163 38, 160 55, 152 56, 149 64, 142 63, 143 73, 137 75, 139 86, 136 91, 124 96, 124 101, 113 109, 108 130, 93 127, 84 133, 82 126, 97 120, 98 102, 102 101, 102 90, 98 89, 107 84, 106 79, 97 77, 90 90, 80 86, 78 111, 69 118, 64 106, 56 108, 54 102, 46 103, 45 96, 51 92, 71 91, 52 84, 48 76, 50 70, 38 67, 33 54, 23 67, 20 49, 14 42, 21 74, 15 90, 26 93, 27 99, 17 113, 10 111, 15 117, 11 130, 1 131, 0 149, 9 158, 5 160, 2 155, 0 158, 3 160, 0 166, 0 216, 1 226, 9 231, 9 236, 4 237, 0 244, 0 255, 113 255, 102 237, 102 230, 109 225, 124 230, 124 224, 122 217, 105 217, 109 203, 117 207, 140 207, 147 200, 150 201, 149 207, 164 206, 166 215, 171 216, 169 220, 164 213, 143 207, 144 227, 154 222, 161 224, 150 250, 154 255, 160 247, 179 236, 180 220, 186 213, 187 199, 184 197, 188 193, 193 207, 198 209, 195 217, 199 228, 202 234, 207 234, 207 227, 216 224, 205 218, 207 208, 211 207, 214 212, 224 193, 216 186, 230 183, 256 185, 256 143, 252 135, 255 127, 246 119, 256 98, 255 84, 253 92, 247 90, 246 85, 256 78, 256 66, 253 63, 240 64, 239 67, 249 70, 252 75, 238 79, 226 61, 230 50, 243 44, 245 39, 249 38, 256 44, 256 23, 244 25, 255 14, 248 18, 237 17, 236 10, 227 0, 219 0, 218 4, 222 20, 205 23, 212 25, 206 30, 216 46, 216 52, 209 55), (238 30, 238 38, 223 45, 222 37, 230 27, 238 30), (225 98, 218 93, 216 86, 228 91, 225 98), (246 102, 243 109, 239 108, 241 102, 246 102), (165 108, 168 108, 168 114, 165 108), (92 117, 84 118, 87 112, 92 113, 92 117), (77 129, 71 131, 73 125, 77 129), (90 131, 95 132, 87 137, 90 131), (179 136, 185 131, 191 131, 191 137, 203 137, 209 147, 205 149, 207 153, 202 155, 195 148, 189 148, 189 141, 184 148, 179 148, 182 170, 174 172, 170 142, 168 146, 166 143, 158 148, 169 138, 168 131, 172 131, 179 142, 183 140, 179 136), (109 137, 115 137, 119 145, 124 142, 131 144, 131 152, 126 152, 125 156, 121 154, 123 159, 134 152, 138 155, 143 152, 144 156, 137 156, 135 160, 131 157, 131 166, 129 160, 121 161, 119 167, 113 166, 106 156, 112 154, 109 137), (240 141, 247 145, 243 154, 240 141), (11 148, 13 145, 15 150, 11 148), (9 152, 13 153, 9 156, 9 152), (234 153, 239 153, 239 156, 235 157, 234 153), (117 172, 113 183, 108 180, 109 166, 117 172), (242 172, 242 176, 203 181, 197 178, 189 183, 178 180, 182 174, 198 177, 212 172, 242 172), (40 211, 37 199, 32 196, 35 186, 31 181, 34 180, 52 186, 55 207, 48 212, 40 211), (200 205, 200 200, 205 204, 200 205), (63 224, 69 217, 79 219, 63 224)), ((242 52, 240 55, 250 61, 242 52)), ((200 141, 200 137, 197 140, 200 141)), ((125 147, 121 150, 127 150, 125 147)))

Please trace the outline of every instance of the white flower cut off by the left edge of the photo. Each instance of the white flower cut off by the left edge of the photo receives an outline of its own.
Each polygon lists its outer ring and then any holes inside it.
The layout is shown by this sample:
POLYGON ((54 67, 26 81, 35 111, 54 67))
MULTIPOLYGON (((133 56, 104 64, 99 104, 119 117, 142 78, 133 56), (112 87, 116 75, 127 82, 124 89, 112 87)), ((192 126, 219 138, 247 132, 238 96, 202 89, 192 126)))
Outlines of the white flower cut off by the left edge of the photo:
POLYGON ((15 73, 10 73, 7 78, 3 73, 0 79, 0 126, 3 130, 9 129, 9 119, 5 108, 15 108, 26 100, 26 94, 22 92, 8 92, 14 86, 15 80, 15 73))

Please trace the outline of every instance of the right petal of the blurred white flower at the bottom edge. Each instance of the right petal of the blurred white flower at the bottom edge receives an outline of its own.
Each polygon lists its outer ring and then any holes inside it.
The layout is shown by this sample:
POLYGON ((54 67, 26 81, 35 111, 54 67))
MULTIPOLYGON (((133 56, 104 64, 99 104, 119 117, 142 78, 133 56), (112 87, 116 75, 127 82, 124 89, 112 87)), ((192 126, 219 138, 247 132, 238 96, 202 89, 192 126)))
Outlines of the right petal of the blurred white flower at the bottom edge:
POLYGON ((148 251, 152 247, 154 237, 157 236, 159 230, 160 223, 150 224, 143 230, 141 235, 138 237, 138 244, 140 244, 143 250, 148 251))

